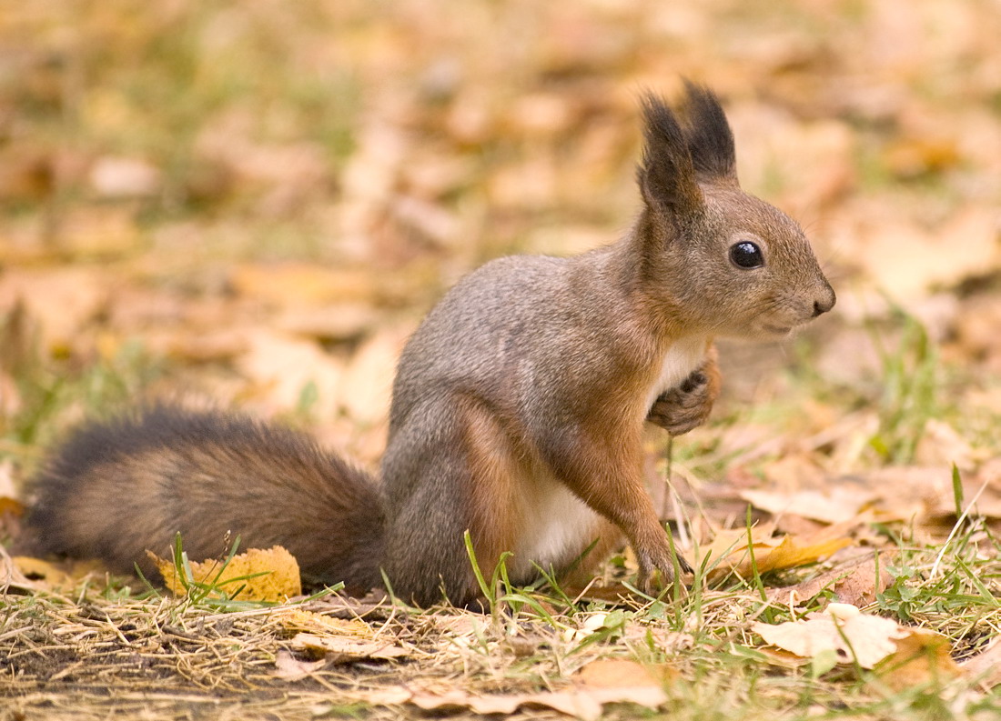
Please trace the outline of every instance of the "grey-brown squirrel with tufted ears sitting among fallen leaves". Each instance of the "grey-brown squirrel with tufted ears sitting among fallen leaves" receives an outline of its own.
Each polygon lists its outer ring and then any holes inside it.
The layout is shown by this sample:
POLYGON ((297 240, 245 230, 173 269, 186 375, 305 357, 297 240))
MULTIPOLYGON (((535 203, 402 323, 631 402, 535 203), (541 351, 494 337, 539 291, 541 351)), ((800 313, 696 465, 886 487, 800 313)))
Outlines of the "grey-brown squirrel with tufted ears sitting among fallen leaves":
POLYGON ((618 242, 486 263, 403 349, 378 479, 308 435, 237 413, 154 404, 78 428, 33 479, 40 552, 138 564, 180 532, 189 555, 228 533, 285 546, 348 593, 383 584, 426 606, 480 598, 506 553, 529 583, 590 578, 625 538, 648 589, 676 557, 644 486, 645 423, 703 423, 720 389, 714 339, 778 338, 835 293, 801 228, 744 193, 719 98, 646 95, 643 205, 618 242), (589 550, 590 549, 590 550, 589 550))

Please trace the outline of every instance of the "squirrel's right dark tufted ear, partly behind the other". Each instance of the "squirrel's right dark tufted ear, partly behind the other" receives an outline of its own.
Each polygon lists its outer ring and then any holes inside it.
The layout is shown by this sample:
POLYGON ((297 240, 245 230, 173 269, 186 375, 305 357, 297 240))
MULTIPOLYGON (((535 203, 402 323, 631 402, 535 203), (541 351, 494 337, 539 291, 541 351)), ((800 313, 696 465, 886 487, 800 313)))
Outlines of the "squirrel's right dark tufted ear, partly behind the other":
POLYGON ((695 172, 708 180, 737 182, 734 133, 720 99, 709 88, 685 80, 682 132, 695 172))

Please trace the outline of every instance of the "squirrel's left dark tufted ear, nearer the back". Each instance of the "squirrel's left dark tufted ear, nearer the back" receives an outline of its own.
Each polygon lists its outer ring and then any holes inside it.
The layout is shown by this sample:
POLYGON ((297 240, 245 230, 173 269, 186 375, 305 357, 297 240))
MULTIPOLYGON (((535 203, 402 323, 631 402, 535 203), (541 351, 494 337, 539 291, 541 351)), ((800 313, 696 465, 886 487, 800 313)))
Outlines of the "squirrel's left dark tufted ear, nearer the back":
POLYGON ((692 154, 674 112, 654 95, 643 98, 643 162, 637 171, 647 207, 673 216, 688 215, 703 206, 692 154))

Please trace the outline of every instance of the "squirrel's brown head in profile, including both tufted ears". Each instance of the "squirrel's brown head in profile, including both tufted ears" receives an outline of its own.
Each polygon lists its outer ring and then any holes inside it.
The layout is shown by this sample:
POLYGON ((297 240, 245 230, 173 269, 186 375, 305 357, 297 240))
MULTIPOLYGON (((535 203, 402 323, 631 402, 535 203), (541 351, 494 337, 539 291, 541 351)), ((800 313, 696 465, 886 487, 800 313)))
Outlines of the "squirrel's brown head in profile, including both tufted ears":
POLYGON ((831 310, 834 290, 800 226, 740 189, 719 99, 685 87, 677 112, 644 98, 645 207, 634 234, 644 293, 698 332, 786 335, 831 310))

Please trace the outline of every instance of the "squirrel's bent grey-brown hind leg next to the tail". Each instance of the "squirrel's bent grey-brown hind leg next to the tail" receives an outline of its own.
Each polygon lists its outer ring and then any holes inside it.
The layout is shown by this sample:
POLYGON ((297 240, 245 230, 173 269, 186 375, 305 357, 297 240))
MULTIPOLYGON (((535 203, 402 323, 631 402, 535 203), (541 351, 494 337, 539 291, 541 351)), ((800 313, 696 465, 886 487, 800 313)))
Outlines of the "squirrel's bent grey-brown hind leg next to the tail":
POLYGON ((502 425, 475 399, 450 396, 411 411, 395 431, 383 459, 386 572, 401 598, 475 604, 482 592, 465 532, 487 581, 517 547, 517 460, 502 425))

